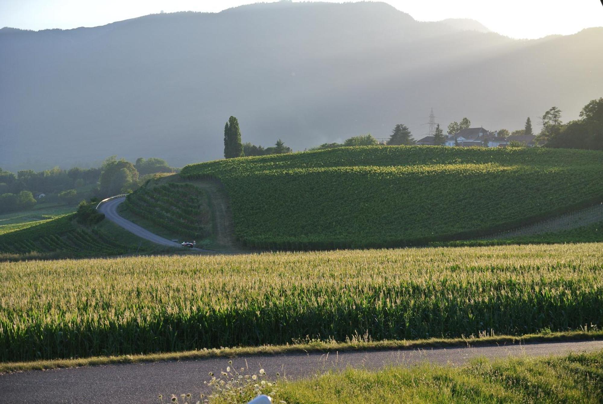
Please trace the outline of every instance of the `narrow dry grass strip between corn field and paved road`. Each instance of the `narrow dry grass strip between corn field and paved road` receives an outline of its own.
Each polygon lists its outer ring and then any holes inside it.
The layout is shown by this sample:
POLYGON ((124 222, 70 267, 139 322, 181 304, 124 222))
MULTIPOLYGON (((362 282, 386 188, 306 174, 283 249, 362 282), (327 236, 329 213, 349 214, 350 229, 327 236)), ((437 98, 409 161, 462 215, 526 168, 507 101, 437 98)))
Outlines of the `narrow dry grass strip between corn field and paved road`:
POLYGON ((476 338, 430 338, 396 341, 370 341, 365 338, 354 338, 347 342, 310 340, 297 344, 265 345, 259 347, 233 347, 220 349, 203 349, 186 352, 150 353, 147 355, 93 356, 91 358, 55 359, 48 361, 0 362, 0 373, 17 371, 47 370, 55 368, 72 368, 81 366, 125 364, 157 361, 186 361, 206 358, 234 358, 250 355, 280 355, 284 353, 325 353, 358 350, 389 350, 444 348, 464 346, 487 346, 501 344, 525 344, 528 342, 584 341, 603 339, 603 330, 579 330, 567 332, 545 332, 521 336, 497 335, 476 338))

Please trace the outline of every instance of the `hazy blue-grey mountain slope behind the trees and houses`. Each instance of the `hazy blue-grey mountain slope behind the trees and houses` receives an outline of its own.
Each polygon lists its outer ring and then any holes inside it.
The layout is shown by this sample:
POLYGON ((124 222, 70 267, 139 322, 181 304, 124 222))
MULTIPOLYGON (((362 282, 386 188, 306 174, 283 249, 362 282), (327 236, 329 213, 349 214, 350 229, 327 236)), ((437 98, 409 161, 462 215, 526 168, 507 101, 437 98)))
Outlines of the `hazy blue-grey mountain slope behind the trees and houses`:
POLYGON ((294 150, 469 116, 520 128, 603 93, 603 29, 518 41, 417 22, 384 3, 256 4, 95 28, 0 31, 0 165, 112 154, 216 159, 223 127, 294 150))

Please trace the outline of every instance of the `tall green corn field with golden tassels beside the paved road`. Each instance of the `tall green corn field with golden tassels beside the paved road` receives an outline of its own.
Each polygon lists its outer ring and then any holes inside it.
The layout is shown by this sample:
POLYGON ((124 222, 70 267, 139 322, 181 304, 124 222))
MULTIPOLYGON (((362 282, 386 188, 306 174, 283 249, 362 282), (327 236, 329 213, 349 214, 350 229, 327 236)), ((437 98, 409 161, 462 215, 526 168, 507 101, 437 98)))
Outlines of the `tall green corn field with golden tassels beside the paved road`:
POLYGON ((0 360, 603 324, 603 244, 0 263, 0 360))

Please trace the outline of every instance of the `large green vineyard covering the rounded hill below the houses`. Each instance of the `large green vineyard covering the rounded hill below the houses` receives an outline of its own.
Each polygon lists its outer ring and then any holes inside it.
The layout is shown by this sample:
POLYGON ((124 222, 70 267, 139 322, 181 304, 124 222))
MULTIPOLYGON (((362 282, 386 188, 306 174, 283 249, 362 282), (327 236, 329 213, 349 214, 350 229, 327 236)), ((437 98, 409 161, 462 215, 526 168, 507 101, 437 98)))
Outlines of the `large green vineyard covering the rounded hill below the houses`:
POLYGON ((259 248, 396 247, 473 238, 603 198, 603 153, 355 147, 186 166, 218 178, 259 248))

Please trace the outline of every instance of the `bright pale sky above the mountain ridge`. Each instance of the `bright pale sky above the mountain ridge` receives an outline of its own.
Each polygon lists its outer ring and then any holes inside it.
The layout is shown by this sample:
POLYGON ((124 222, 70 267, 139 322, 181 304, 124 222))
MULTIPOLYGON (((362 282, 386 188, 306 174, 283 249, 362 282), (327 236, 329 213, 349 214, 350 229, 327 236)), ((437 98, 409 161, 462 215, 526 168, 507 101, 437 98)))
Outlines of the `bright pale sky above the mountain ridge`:
MULTIPOLYGON (((332 1, 332 0, 327 0, 332 1)), ((29 30, 95 27, 145 14, 212 11, 253 0, 0 0, 0 27, 29 30)), ((573 34, 603 26, 599 0, 390 0, 420 21, 472 18, 514 38, 573 34)))

